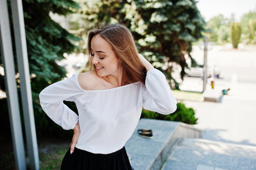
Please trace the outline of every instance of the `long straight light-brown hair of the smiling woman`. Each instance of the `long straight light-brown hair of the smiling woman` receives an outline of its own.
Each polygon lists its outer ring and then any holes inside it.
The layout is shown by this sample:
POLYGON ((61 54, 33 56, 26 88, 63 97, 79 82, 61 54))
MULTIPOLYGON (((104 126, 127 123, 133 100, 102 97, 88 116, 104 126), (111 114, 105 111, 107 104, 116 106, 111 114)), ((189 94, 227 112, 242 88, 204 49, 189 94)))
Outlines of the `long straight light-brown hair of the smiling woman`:
POLYGON ((88 52, 89 64, 91 70, 94 69, 92 64, 91 41, 94 35, 100 35, 104 38, 114 51, 116 57, 122 61, 123 79, 129 83, 142 82, 145 83, 146 68, 139 59, 134 38, 130 30, 122 24, 110 24, 102 26, 100 29, 91 31, 88 35, 88 52))

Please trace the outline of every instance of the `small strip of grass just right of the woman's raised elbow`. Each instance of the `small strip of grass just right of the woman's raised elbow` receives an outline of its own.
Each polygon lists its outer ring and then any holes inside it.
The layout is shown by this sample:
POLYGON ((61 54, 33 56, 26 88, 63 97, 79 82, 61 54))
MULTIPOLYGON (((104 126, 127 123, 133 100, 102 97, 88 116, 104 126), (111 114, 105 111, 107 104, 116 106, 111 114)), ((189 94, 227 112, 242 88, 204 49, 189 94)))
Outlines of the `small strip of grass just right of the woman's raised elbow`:
POLYGON ((172 90, 176 99, 202 101, 202 93, 172 90))

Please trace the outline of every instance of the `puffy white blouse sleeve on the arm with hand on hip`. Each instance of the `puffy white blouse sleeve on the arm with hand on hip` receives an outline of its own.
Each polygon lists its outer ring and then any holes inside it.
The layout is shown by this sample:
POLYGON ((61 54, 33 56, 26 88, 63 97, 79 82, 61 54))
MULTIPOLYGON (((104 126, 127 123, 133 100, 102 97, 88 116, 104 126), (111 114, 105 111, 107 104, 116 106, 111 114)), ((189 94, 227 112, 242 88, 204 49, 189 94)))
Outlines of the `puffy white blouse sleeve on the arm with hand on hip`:
POLYGON ((77 75, 53 83, 39 94, 45 113, 65 130, 73 129, 78 122, 76 113, 63 103, 64 100, 74 102, 76 96, 84 92, 78 84, 77 75))

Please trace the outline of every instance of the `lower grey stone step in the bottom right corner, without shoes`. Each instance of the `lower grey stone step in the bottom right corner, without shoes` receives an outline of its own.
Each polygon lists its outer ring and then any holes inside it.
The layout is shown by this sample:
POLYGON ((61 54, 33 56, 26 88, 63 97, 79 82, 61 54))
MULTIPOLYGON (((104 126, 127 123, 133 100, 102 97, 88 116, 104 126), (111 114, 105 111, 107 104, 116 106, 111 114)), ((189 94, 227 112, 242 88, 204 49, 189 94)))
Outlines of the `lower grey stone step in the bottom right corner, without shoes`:
POLYGON ((256 147, 184 138, 161 170, 256 170, 256 147))

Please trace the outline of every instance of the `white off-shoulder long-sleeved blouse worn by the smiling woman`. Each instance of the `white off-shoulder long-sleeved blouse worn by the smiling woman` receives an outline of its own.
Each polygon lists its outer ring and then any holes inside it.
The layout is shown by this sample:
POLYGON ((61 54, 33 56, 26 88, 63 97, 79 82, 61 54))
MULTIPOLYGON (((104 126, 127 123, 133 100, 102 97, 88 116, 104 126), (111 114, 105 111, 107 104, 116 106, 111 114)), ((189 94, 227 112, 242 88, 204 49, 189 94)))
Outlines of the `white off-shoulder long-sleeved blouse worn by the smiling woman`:
POLYGON ((109 154, 120 150, 134 132, 142 107, 168 115, 177 109, 177 101, 164 74, 150 70, 145 85, 141 82, 106 90, 83 90, 72 77, 51 84, 39 94, 45 113, 63 129, 73 129, 79 120, 81 134, 76 148, 109 154), (76 103, 79 117, 63 104, 76 103))

